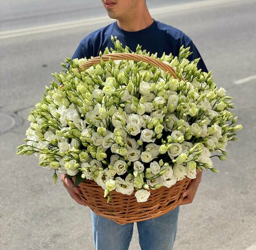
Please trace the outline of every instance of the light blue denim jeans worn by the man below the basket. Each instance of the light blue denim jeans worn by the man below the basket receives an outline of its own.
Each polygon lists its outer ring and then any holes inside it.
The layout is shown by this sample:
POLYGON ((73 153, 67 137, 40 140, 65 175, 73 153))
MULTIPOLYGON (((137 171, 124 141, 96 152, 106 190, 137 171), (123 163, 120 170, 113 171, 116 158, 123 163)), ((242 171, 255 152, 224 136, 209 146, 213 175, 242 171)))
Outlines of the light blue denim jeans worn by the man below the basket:
MULTIPOLYGON (((141 250, 172 250, 178 225, 179 207, 155 219, 137 222, 141 250)), ((120 225, 91 212, 96 250, 128 250, 133 223, 120 225)))

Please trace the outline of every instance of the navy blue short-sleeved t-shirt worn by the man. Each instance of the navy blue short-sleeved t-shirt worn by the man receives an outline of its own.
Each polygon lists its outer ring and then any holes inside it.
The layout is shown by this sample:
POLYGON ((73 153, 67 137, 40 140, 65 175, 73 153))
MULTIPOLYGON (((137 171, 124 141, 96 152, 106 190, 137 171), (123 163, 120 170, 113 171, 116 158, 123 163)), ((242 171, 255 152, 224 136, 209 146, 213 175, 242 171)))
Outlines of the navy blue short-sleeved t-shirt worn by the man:
MULTIPOLYGON (((106 47, 113 48, 111 36, 117 36, 123 47, 128 46, 133 52, 139 44, 142 50, 146 49, 147 52, 153 54, 157 52, 158 57, 161 57, 163 52, 166 55, 172 53, 173 56, 178 56, 180 47, 184 45, 185 48, 190 47, 190 51, 193 52, 188 60, 201 58, 196 46, 187 35, 172 26, 154 20, 148 28, 134 32, 124 31, 118 26, 117 21, 98 29, 80 42, 72 59, 97 57, 99 52, 104 52, 106 47)), ((208 72, 202 59, 198 63, 198 68, 208 72)))

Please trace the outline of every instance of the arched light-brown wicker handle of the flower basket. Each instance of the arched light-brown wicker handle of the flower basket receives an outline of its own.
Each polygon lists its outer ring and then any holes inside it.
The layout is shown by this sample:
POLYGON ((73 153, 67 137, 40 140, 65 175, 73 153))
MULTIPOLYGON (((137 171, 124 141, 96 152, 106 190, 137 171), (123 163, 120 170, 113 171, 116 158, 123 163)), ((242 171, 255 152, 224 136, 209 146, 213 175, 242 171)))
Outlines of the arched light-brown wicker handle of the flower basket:
MULTIPOLYGON (((94 57, 89 59, 87 62, 83 63, 80 65, 80 68, 87 69, 91 67, 92 65, 96 65, 100 63, 100 59, 102 59, 104 62, 108 61, 109 59, 112 60, 133 60, 137 62, 144 62, 144 63, 149 63, 151 65, 154 65, 158 68, 161 68, 165 72, 169 72, 171 76, 173 76, 175 79, 178 77, 175 74, 175 69, 172 68, 170 65, 167 65, 166 63, 163 63, 159 61, 158 59, 154 59, 152 57, 148 57, 146 55, 137 55, 137 54, 132 54, 132 53, 115 53, 115 54, 107 54, 107 55, 102 55, 101 57, 94 57)), ((184 78, 181 78, 183 81, 184 78)))

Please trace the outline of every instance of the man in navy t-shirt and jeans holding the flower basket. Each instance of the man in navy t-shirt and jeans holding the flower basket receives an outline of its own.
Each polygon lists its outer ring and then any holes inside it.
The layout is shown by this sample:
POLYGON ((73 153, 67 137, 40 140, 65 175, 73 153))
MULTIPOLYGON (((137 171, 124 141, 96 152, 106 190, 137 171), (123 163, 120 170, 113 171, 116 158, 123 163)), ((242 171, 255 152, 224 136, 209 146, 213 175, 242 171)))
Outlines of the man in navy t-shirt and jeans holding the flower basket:
MULTIPOLYGON (((183 32, 155 21, 146 6, 146 0, 102 0, 110 18, 117 19, 102 29, 94 31, 86 36, 79 44, 74 58, 90 58, 99 55, 106 47, 113 47, 111 35, 117 36, 123 46, 128 46, 135 51, 137 44, 151 53, 158 53, 159 57, 165 54, 177 56, 180 46, 190 47, 193 54, 188 58, 193 60, 201 57, 191 39, 183 32)), ((198 67, 207 72, 202 60, 198 67)), ((187 190, 183 194, 184 199, 181 205, 191 203, 201 181, 201 172, 197 173, 187 190)), ((79 190, 73 187, 72 180, 61 176, 63 185, 67 188, 71 197, 81 205, 77 193, 79 190)), ((177 232, 179 207, 169 213, 155 219, 149 219, 137 223, 139 243, 142 250, 171 250, 177 232)), ((97 216, 91 213, 94 245, 97 250, 125 250, 128 249, 133 223, 119 225, 114 221, 97 216)))

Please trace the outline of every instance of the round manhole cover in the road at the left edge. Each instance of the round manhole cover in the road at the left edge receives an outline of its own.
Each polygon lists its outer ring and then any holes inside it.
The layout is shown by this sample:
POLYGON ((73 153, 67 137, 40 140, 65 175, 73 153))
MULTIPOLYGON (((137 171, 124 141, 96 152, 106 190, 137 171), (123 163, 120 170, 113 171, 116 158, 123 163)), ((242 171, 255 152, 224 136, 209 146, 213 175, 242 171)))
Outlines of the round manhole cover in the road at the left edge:
POLYGON ((0 135, 22 124, 22 118, 10 111, 0 110, 0 135))

